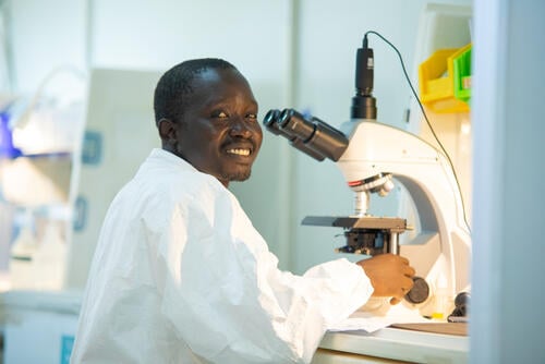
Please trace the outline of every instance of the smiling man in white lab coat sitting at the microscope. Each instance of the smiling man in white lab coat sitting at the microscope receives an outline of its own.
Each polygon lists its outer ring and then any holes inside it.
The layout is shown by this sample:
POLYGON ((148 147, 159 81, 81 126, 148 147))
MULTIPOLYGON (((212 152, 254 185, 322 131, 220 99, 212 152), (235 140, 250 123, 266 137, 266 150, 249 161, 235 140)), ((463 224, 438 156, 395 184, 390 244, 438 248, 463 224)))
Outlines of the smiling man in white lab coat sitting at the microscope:
POLYGON ((162 149, 106 216, 72 363, 307 363, 329 324, 372 293, 411 288, 414 269, 393 255, 304 276, 277 268, 227 190, 250 177, 263 138, 232 64, 175 65, 157 84, 155 113, 162 149))

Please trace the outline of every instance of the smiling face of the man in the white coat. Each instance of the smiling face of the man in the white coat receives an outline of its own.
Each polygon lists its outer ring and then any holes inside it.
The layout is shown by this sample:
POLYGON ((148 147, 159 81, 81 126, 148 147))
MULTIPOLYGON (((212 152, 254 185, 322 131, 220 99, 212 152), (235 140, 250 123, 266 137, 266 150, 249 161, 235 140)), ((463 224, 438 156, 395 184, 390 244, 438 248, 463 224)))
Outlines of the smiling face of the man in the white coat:
POLYGON ((208 69, 192 86, 174 153, 225 186, 246 180, 263 141, 250 85, 234 70, 208 69))

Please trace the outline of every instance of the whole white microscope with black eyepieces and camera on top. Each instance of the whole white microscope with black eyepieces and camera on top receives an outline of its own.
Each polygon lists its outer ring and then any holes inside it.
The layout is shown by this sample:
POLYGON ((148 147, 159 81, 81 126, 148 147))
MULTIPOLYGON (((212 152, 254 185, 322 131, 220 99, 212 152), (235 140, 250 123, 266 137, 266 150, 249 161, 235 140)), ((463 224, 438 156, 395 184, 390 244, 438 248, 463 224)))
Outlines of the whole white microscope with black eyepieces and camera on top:
MULTIPOLYGON (((355 84, 352 120, 343 123, 341 131, 293 109, 270 110, 264 125, 311 157, 335 161, 355 193, 354 215, 311 216, 303 225, 343 228, 347 245, 339 248, 343 253, 408 257, 416 277, 403 304, 422 316, 434 316, 438 300, 446 300, 446 318, 455 301, 455 312, 458 302, 464 303, 460 294, 470 289, 471 234, 452 167, 427 142, 376 121, 375 99, 371 96, 373 51, 366 47, 366 39, 358 50, 355 84), (386 195, 393 181, 409 192, 420 218, 416 234, 403 244, 399 234, 410 229, 405 219, 367 214, 371 193, 386 195)), ((458 313, 456 316, 464 316, 465 307, 458 313)))

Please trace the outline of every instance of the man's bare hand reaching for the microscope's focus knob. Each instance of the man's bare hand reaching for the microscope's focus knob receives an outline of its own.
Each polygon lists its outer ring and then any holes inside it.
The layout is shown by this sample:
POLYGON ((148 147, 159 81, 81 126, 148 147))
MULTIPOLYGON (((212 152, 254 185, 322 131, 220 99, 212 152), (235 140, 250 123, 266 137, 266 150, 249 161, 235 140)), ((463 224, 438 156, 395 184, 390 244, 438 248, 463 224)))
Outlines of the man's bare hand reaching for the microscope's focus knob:
POLYGON ((379 254, 356 263, 363 268, 375 289, 374 296, 391 296, 398 304, 413 286, 414 268, 409 260, 393 254, 379 254))

